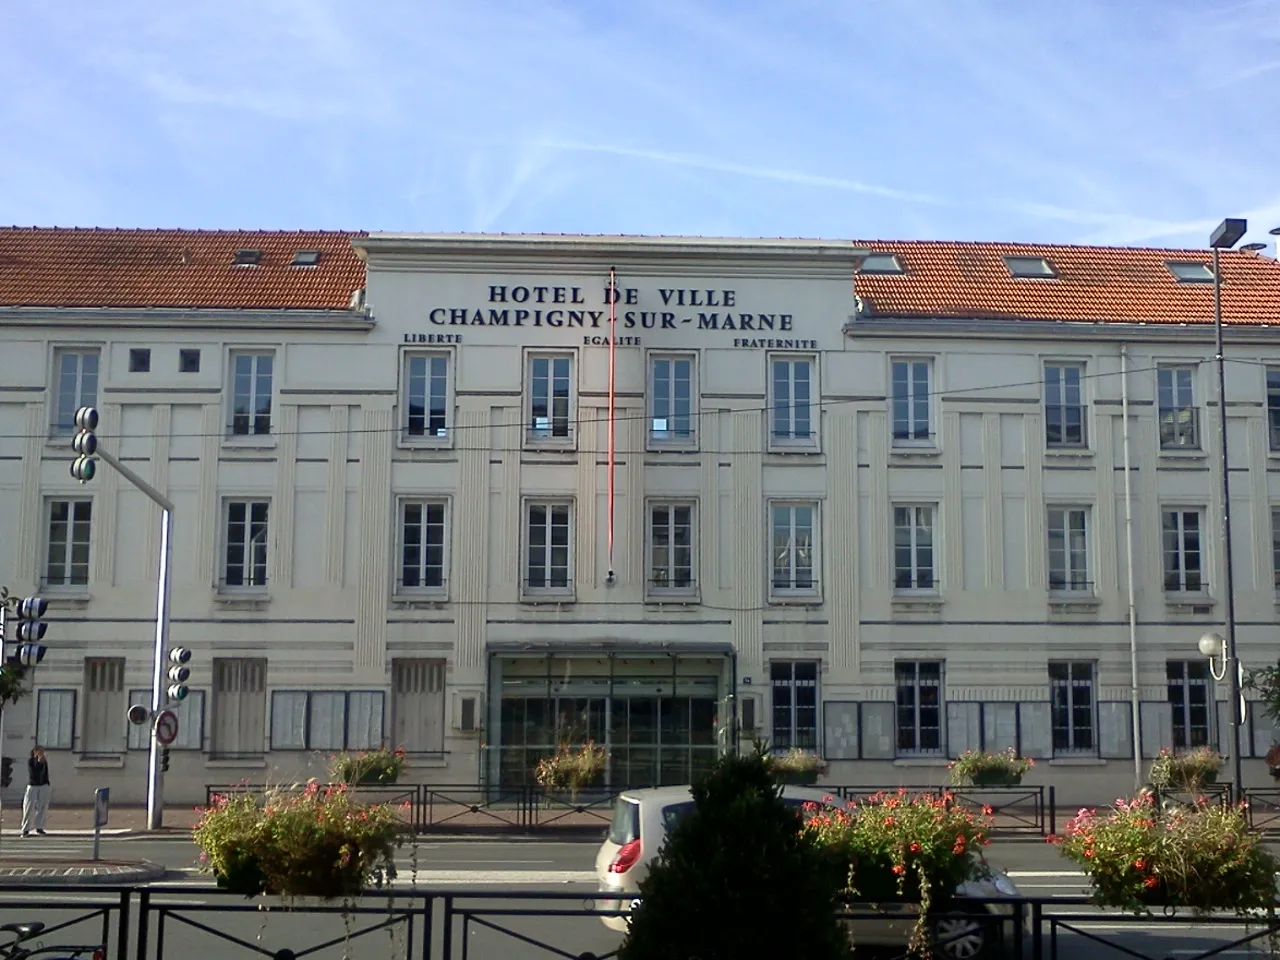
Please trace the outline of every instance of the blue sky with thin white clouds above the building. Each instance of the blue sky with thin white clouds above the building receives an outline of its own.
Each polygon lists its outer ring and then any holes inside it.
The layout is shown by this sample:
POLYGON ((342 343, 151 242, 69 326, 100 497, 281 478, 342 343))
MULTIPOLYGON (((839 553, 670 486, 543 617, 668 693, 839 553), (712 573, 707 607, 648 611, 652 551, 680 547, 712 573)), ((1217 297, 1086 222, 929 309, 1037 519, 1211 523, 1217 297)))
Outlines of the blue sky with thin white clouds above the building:
POLYGON ((4 0, 0 220, 1202 246, 1280 0, 4 0))

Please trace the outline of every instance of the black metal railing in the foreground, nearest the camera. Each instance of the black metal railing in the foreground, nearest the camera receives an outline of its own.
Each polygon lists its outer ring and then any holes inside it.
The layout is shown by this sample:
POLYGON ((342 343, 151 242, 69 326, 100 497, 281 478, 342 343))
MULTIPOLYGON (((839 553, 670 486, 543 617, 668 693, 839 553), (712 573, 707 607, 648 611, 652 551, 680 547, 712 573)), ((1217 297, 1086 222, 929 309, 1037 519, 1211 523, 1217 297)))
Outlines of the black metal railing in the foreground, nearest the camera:
MULTIPOLYGON (((65 887, 0 886, 4 923, 44 928, 23 942, 50 960, 100 950, 104 960, 270 957, 316 960, 608 960, 616 956, 630 910, 627 895, 548 890, 396 887, 347 902, 298 900, 266 905, 211 887, 151 884, 93 893, 65 887)), ((842 913, 855 946, 905 957, 914 906, 842 913)), ((787 923, 778 918, 778 923, 787 923)), ((708 918, 708 923, 714 923, 708 918)), ((1080 896, 951 901, 928 924, 938 955, 977 942, 1014 960, 1202 960, 1252 954, 1280 956, 1280 918, 1161 910, 1134 916, 1102 910, 1080 896)), ((0 956, 6 936, 0 933, 0 956)))

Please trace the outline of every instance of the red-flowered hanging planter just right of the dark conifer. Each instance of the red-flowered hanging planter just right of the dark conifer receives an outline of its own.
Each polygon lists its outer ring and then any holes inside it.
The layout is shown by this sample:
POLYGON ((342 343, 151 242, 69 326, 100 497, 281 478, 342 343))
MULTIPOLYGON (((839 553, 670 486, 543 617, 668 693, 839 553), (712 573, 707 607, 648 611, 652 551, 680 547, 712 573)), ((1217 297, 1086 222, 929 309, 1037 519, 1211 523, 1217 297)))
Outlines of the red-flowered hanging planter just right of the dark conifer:
POLYGON ((957 884, 987 874, 989 809, 978 817, 950 794, 876 794, 844 808, 805 805, 805 832, 844 865, 849 904, 920 904, 911 947, 927 945, 928 913, 957 884))

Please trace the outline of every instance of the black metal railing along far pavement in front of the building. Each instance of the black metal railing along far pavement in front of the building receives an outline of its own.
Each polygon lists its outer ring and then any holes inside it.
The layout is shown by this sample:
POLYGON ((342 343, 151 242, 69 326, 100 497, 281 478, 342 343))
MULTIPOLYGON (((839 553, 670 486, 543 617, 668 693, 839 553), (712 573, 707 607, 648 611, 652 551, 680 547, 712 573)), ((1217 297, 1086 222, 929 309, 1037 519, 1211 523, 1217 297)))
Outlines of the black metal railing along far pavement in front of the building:
MULTIPOLYGON (((261 795, 268 790, 301 792, 306 783, 232 783, 205 787, 205 803, 232 794, 261 795)), ((493 833, 603 835, 613 817, 613 801, 628 787, 589 788, 576 796, 541 787, 488 785, 387 783, 352 787, 370 803, 392 804, 402 810, 407 829, 415 833, 485 836, 493 833)), ((822 783, 813 787, 842 803, 860 801, 878 794, 946 791, 951 803, 991 817, 992 835, 1002 837, 1047 836, 1056 829, 1053 787, 938 787, 938 786, 850 786, 822 783)))

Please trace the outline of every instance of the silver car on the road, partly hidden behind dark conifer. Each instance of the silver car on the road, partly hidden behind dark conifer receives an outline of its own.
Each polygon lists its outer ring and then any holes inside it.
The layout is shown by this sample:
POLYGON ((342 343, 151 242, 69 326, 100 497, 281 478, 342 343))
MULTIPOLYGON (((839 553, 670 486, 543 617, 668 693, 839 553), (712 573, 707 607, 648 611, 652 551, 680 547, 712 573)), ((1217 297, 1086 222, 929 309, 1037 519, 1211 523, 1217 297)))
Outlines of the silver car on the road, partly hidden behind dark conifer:
MULTIPOLYGON (((783 787, 782 800, 796 808, 804 804, 829 804, 829 795, 805 787, 783 787)), ((628 790, 620 794, 613 804, 609 835, 595 855, 595 873, 600 881, 600 909, 613 911, 602 916, 611 929, 627 929, 626 910, 639 900, 617 900, 617 893, 639 893, 640 881, 649 873, 667 833, 682 817, 694 809, 692 792, 687 786, 628 790)), ((984 902, 989 897, 1018 896, 1018 887, 1000 870, 991 876, 968 881, 956 887, 956 902, 932 922, 932 936, 941 956, 952 960, 972 960, 988 952, 998 938, 1000 923, 993 916, 1007 919, 1012 909, 1002 904, 984 902), (965 904, 965 900, 972 901, 965 904)), ((868 908, 869 909, 869 908, 868 908)), ((876 918, 847 922, 850 940, 859 946, 905 946, 915 924, 914 904, 890 904, 877 908, 876 918)))

